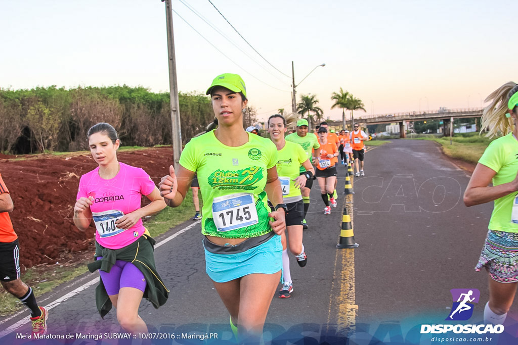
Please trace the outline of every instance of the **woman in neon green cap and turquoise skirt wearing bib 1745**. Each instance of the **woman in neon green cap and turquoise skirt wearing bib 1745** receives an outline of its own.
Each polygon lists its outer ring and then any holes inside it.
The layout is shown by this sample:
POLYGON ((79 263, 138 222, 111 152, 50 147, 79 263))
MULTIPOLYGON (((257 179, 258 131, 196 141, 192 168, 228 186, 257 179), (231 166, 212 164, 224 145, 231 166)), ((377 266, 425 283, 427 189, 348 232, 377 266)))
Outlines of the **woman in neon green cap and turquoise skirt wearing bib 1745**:
POLYGON ((197 173, 204 200, 207 274, 231 314, 236 338, 255 342, 281 277, 279 235, 286 228, 286 205, 276 169, 277 147, 243 129, 248 100, 241 77, 221 74, 207 94, 218 128, 191 139, 178 171, 170 166, 159 187, 168 206, 177 207, 197 173))

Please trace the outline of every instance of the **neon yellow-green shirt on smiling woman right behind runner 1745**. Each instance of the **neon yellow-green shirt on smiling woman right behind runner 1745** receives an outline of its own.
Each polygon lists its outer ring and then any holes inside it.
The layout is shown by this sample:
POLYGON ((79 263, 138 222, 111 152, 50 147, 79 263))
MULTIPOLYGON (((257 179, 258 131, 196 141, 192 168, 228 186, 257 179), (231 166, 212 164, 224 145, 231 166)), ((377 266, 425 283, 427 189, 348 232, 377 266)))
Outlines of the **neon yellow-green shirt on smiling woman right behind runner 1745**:
POLYGON ((277 174, 281 181, 282 199, 285 204, 302 200, 300 189, 295 188, 293 180, 300 176, 300 164, 307 160, 304 149, 291 141, 286 141, 284 147, 277 151, 277 174))

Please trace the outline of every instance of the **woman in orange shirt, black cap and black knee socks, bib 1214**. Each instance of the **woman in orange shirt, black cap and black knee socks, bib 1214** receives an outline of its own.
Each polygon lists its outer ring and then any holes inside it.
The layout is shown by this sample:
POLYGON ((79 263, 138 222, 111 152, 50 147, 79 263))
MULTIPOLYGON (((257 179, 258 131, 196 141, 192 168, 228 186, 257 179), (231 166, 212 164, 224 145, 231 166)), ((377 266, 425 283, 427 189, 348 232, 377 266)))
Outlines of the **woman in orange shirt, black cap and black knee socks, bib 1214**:
POLYGON ((325 208, 324 214, 331 214, 331 206, 336 207, 336 198, 333 197, 333 190, 336 186, 336 163, 338 162, 338 146, 336 143, 327 140, 327 129, 319 128, 320 156, 317 159, 315 176, 320 185, 320 192, 325 208))

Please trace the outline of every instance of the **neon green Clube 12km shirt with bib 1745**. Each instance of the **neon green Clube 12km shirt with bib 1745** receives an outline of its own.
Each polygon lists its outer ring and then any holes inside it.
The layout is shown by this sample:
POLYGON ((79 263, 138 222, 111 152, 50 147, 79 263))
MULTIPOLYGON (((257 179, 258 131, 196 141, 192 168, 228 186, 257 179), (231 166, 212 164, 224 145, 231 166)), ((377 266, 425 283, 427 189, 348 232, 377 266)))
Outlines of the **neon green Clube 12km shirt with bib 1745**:
POLYGON ((275 167, 277 147, 269 139, 248 133, 248 143, 222 144, 214 131, 185 145, 180 164, 198 174, 202 191, 202 233, 247 238, 271 231, 270 208, 264 188, 267 169, 275 167))

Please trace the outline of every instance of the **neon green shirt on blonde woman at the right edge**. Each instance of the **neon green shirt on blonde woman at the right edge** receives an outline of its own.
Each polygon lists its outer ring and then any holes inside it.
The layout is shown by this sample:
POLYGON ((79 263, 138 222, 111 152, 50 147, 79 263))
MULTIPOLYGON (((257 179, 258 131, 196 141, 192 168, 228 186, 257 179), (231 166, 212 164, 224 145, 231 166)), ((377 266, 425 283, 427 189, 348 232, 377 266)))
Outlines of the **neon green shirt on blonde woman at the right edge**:
MULTIPOLYGON (((496 171, 493 186, 513 181, 518 172, 518 141, 512 133, 494 140, 485 149, 479 163, 496 171)), ((510 193, 495 200, 488 226, 490 230, 518 233, 518 214, 513 214, 517 194, 518 192, 510 193)), ((514 209, 515 213, 518 213, 518 204, 514 209)))

